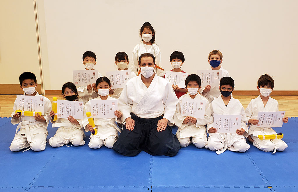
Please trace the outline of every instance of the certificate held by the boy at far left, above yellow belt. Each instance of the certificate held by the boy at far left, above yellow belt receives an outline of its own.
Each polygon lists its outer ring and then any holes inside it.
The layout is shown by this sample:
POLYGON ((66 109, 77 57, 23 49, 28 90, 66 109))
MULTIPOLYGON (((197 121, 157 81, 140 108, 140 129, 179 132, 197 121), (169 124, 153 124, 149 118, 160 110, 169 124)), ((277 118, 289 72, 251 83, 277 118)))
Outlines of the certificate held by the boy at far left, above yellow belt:
POLYGON ((44 96, 17 95, 18 110, 41 112, 44 115, 44 96))

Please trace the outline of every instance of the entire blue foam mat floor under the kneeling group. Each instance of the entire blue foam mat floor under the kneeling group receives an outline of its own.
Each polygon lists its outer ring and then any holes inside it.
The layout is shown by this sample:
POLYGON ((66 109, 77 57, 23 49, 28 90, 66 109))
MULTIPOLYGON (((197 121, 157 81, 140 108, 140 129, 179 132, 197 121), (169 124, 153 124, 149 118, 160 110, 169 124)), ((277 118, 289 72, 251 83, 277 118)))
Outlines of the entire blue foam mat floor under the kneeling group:
MULTIPOLYGON (((245 153, 220 155, 191 144, 175 157, 145 152, 125 157, 104 146, 90 149, 90 133, 84 146, 52 148, 47 143, 41 152, 11 152, 16 126, 0 118, 0 191, 298 191, 298 118, 275 128, 289 146, 275 155, 252 144, 245 153), (97 159, 97 169, 86 163, 89 159, 97 159), (272 167, 280 171, 266 170, 272 167)), ((49 125, 47 140, 56 130, 49 125)))

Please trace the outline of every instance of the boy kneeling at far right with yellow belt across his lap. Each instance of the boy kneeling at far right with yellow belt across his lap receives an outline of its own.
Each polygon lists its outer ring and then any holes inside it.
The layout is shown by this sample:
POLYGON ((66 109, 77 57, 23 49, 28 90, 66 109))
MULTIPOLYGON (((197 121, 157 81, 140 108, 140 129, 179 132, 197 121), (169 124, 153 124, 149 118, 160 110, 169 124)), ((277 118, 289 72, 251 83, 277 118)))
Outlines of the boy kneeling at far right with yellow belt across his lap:
MULTIPOLYGON (((288 145, 281 139, 265 139, 260 140, 258 135, 276 134, 272 128, 257 127, 259 120, 257 119, 259 111, 263 112, 277 112, 278 102, 270 97, 270 93, 274 87, 274 80, 268 74, 261 75, 257 82, 257 89, 260 95, 252 99, 247 106, 245 113, 249 125, 248 140, 253 143, 255 147, 260 150, 269 152, 283 151, 288 145)), ((283 118, 283 122, 288 122, 288 117, 283 118)))

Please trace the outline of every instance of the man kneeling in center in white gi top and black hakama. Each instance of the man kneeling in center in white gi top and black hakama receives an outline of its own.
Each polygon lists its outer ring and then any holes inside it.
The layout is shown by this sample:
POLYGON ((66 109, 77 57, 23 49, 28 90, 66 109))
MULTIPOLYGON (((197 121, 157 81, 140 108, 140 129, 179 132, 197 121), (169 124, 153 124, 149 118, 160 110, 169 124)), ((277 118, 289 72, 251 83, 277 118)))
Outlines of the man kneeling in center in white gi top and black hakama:
POLYGON ((169 125, 174 123, 177 96, 170 83, 153 72, 155 58, 151 53, 139 57, 139 67, 141 75, 126 83, 118 99, 126 124, 113 149, 125 156, 142 150, 150 155, 175 156, 180 144, 169 125))

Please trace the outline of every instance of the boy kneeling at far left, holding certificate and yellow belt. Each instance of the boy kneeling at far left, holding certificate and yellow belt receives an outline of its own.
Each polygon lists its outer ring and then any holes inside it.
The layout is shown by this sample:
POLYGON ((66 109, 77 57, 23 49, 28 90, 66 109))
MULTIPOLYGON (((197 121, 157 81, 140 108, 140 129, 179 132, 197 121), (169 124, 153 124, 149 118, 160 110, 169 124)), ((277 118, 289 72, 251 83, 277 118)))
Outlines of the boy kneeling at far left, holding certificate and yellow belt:
MULTIPOLYGON (((19 77, 20 87, 24 91, 24 95, 39 96, 35 90, 37 86, 36 77, 31 72, 22 73, 19 77)), ((18 110, 18 103, 15 100, 13 110, 18 110)), ((48 135, 47 127, 51 117, 49 116, 52 110, 51 102, 44 97, 44 115, 36 113, 35 116, 23 116, 19 113, 12 113, 11 123, 18 124, 18 133, 10 145, 11 151, 19 151, 21 149, 30 148, 34 151, 41 151, 46 148, 46 136, 48 135), (29 148, 30 147, 30 148, 29 148)))

